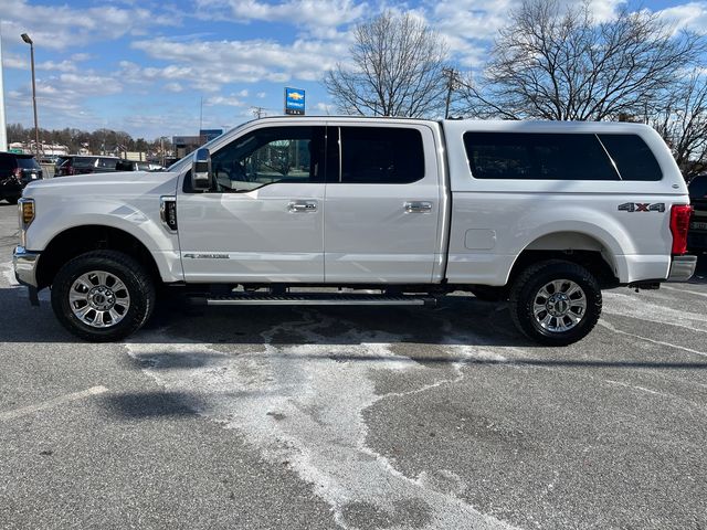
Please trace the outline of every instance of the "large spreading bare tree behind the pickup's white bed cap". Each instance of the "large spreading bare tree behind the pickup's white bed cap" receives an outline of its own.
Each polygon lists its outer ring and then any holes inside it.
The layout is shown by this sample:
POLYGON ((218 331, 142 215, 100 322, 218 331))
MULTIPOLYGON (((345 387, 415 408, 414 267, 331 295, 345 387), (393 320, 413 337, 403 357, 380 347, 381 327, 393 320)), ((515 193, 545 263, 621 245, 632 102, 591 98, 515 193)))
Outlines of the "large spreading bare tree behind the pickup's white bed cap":
POLYGON ((623 7, 598 22, 589 4, 525 0, 500 30, 479 83, 465 81, 472 115, 601 120, 663 107, 703 41, 656 14, 623 7))

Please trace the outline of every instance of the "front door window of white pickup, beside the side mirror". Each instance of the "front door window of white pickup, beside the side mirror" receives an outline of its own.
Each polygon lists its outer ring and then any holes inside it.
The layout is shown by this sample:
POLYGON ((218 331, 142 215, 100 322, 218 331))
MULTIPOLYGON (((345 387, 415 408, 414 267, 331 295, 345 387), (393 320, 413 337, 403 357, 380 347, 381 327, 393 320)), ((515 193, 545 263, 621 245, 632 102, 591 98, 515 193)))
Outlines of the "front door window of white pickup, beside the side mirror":
POLYGON ((211 156, 214 191, 251 191, 276 182, 324 182, 324 127, 257 129, 211 156))

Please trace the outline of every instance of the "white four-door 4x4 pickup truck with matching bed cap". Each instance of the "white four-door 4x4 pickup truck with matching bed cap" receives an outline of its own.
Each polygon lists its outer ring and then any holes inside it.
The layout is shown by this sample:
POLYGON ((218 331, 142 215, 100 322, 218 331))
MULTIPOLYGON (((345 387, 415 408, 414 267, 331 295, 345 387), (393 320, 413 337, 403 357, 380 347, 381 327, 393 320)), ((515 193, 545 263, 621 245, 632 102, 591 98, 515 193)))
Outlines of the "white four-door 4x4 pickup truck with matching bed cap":
POLYGON ((650 127, 277 117, 167 172, 57 178, 20 201, 18 279, 76 336, 117 340, 158 287, 209 305, 508 301, 526 336, 584 337, 601 289, 686 280, 692 208, 650 127))

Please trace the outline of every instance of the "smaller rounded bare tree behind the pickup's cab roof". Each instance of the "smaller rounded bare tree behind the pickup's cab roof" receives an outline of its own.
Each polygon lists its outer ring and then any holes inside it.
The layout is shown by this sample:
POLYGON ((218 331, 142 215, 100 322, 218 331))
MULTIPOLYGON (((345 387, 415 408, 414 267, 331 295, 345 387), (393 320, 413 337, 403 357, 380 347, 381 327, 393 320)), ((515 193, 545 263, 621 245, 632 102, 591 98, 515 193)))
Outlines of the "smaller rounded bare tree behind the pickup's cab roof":
POLYGON ((446 45, 422 21, 387 11, 354 31, 350 64, 337 64, 324 84, 340 112, 429 116, 444 107, 446 45))

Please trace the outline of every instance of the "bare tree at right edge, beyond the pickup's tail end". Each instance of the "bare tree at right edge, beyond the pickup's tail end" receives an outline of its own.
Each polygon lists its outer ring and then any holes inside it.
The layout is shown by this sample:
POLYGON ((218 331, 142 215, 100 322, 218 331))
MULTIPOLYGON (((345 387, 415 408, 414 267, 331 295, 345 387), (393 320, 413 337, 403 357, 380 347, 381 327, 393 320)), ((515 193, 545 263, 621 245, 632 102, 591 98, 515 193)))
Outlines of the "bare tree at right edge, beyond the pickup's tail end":
POLYGON ((707 170, 707 73, 696 70, 669 96, 658 112, 647 109, 644 120, 663 136, 690 180, 707 170))

